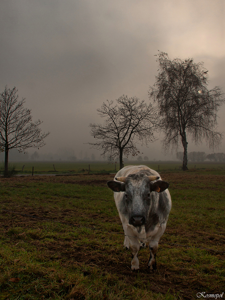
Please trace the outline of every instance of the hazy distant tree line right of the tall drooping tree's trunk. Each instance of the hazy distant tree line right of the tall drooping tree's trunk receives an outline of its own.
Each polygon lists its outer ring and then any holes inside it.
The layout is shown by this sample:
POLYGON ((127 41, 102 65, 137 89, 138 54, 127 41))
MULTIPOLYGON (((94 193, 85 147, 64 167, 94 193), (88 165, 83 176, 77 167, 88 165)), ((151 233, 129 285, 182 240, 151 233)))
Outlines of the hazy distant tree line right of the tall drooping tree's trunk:
MULTIPOLYGON (((211 153, 206 154, 205 152, 189 152, 187 155, 188 161, 190 162, 204 162, 209 160, 210 162, 225 162, 225 153, 211 153)), ((183 161, 183 152, 177 152, 177 159, 183 161)))

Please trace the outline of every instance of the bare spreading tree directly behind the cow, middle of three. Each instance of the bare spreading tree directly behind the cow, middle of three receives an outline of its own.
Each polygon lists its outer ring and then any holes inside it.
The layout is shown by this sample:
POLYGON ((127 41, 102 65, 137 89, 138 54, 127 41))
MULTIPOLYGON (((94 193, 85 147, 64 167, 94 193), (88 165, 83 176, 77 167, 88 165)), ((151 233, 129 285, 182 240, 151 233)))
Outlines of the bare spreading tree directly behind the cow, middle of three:
POLYGON ((105 117, 103 124, 90 124, 90 135, 96 138, 95 143, 89 143, 93 148, 102 151, 103 157, 112 162, 119 156, 120 168, 123 167, 123 154, 137 155, 135 144, 142 145, 156 140, 153 133, 157 129, 156 109, 136 97, 128 98, 122 95, 116 100, 103 103, 97 109, 101 117, 105 117))

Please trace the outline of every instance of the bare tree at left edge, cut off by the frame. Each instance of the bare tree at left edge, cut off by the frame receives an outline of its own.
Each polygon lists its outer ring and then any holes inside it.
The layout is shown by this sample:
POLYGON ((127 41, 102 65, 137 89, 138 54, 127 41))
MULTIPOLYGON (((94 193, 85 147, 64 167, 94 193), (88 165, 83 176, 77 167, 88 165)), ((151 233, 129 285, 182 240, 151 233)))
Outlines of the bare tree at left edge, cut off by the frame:
POLYGON ((18 90, 5 87, 0 94, 0 147, 5 152, 4 176, 8 176, 8 155, 13 148, 20 152, 27 148, 39 148, 45 145, 41 134, 40 120, 32 122, 31 111, 24 108, 24 98, 19 101, 18 90))

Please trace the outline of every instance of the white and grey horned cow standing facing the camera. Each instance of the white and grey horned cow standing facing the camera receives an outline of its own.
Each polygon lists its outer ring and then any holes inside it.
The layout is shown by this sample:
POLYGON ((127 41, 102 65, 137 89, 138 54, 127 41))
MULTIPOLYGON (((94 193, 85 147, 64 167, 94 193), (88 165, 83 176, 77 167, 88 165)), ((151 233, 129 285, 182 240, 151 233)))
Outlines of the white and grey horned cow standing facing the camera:
POLYGON ((145 165, 128 165, 119 170, 107 185, 114 192, 114 200, 122 222, 124 249, 131 249, 133 271, 139 269, 137 252, 149 242, 150 272, 157 270, 158 241, 166 229, 171 209, 169 184, 158 172, 145 165))

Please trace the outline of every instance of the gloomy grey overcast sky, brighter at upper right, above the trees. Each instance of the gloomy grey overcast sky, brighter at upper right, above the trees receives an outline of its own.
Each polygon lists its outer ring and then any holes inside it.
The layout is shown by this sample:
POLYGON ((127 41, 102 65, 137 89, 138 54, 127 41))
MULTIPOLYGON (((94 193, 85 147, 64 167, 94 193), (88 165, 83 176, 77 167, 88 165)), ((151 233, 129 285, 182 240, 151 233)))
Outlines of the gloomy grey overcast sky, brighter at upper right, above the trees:
MULTIPOLYGON (((0 91, 16 86, 50 131, 40 152, 96 154, 84 144, 93 141, 89 123, 103 121, 96 109, 122 94, 149 103, 158 50, 203 61, 209 88, 225 92, 224 16, 224 0, 0 0, 0 91)), ((188 150, 211 153, 205 143, 188 150)), ((159 141, 142 151, 164 157, 159 141)))

